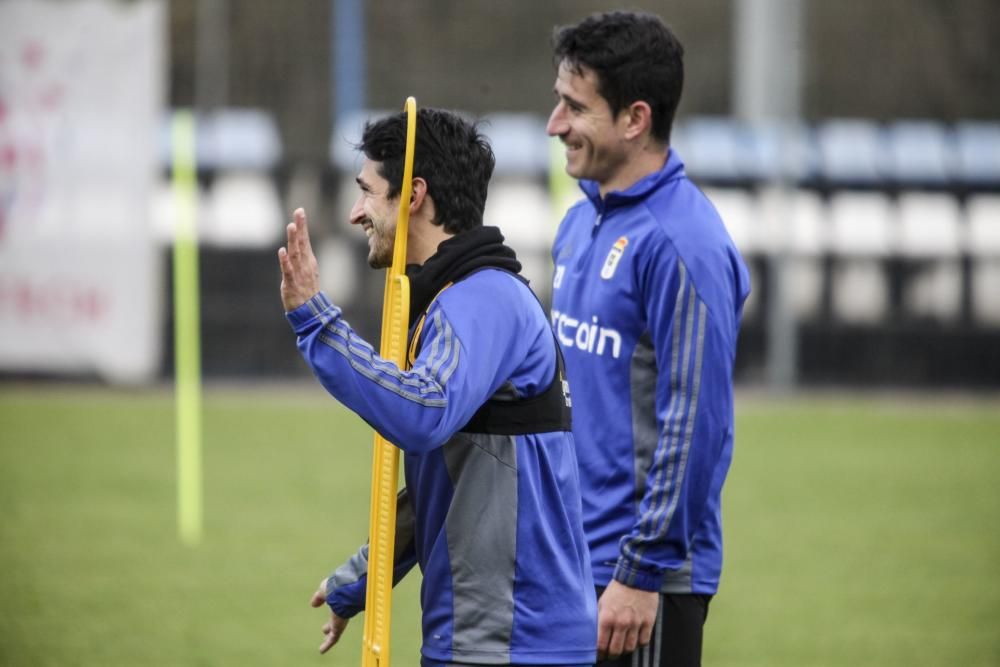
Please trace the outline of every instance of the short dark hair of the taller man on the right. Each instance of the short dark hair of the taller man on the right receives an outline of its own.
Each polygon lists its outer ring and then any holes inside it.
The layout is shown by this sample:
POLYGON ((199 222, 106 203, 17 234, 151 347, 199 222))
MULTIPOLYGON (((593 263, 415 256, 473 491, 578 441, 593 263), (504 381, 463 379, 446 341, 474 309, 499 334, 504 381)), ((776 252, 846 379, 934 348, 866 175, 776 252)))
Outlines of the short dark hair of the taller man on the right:
POLYGON ((553 61, 597 75, 597 92, 618 113, 633 102, 652 109, 652 134, 670 141, 684 88, 684 47, 663 21, 642 12, 593 14, 552 35, 553 61))

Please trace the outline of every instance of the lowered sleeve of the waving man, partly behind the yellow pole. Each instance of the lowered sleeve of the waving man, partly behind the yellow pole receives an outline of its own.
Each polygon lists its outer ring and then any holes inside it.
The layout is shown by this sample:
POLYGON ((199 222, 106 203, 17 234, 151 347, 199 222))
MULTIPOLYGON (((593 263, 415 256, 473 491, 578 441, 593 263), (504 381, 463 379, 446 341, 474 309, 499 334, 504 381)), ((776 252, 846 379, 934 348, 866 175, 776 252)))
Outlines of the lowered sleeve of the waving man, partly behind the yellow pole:
MULTIPOLYGON (((415 526, 413 504, 406 489, 396 500, 396 543, 393 550, 392 585, 395 586, 417 563, 413 540, 415 526)), ((368 592, 368 545, 357 553, 326 580, 326 603, 337 616, 351 618, 365 608, 368 592)))

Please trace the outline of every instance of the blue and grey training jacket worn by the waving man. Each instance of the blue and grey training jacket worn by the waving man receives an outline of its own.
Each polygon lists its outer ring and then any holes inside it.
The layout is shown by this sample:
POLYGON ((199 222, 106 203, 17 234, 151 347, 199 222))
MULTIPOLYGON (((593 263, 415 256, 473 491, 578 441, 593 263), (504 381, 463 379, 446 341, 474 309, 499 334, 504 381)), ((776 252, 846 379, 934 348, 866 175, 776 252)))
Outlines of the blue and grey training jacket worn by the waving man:
MULTIPOLYGON (((404 452, 395 577, 424 578, 423 655, 441 662, 595 660, 597 614, 569 432, 460 432, 491 397, 531 397, 556 372, 534 295, 476 272, 428 309, 412 369, 381 359, 322 294, 288 313, 323 386, 404 452)), ((365 602, 367 546, 327 580, 351 617, 365 602)))

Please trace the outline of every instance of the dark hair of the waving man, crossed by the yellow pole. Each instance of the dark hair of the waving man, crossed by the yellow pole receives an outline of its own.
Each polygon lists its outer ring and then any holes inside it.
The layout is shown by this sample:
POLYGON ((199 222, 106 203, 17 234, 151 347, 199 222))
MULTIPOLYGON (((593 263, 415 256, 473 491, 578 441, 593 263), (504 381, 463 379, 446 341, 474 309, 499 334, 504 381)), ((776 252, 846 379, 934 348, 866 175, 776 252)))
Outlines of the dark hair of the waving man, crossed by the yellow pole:
MULTIPOLYGON (((389 181, 389 198, 397 197, 403 184, 406 112, 367 123, 357 148, 378 163, 379 175, 389 181)), ((482 226, 495 163, 493 149, 476 125, 450 111, 417 110, 413 177, 427 181, 434 224, 449 234, 482 226)))

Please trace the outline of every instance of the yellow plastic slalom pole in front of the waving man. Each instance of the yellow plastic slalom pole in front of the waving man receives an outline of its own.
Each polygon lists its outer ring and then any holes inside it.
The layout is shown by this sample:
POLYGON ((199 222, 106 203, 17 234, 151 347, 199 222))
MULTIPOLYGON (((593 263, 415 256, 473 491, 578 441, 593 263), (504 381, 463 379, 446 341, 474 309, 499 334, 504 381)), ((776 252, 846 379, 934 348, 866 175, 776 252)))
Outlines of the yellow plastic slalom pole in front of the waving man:
MULTIPOLYGON (((417 101, 406 98, 406 156, 399 194, 399 215, 392 266, 385 277, 382 303, 383 359, 400 368, 406 365, 406 333, 410 319, 410 282, 406 277, 406 239, 413 192, 413 152, 417 139, 417 101)), ((362 667, 389 667, 389 631, 392 620, 392 566, 396 542, 396 492, 399 485, 399 450, 378 432, 372 458, 372 498, 368 532, 368 590, 365 598, 365 632, 362 667)))

